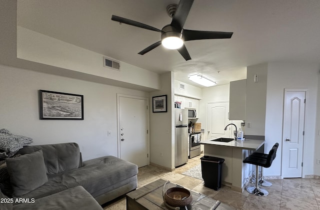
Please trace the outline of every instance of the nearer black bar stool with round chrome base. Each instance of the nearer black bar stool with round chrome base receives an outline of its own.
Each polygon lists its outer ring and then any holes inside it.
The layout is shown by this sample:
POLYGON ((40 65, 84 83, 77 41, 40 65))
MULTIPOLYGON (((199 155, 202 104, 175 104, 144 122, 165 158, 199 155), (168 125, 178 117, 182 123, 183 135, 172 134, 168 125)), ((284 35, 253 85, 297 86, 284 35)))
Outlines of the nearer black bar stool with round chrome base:
MULTIPOLYGON (((275 158, 275 153, 278 147, 278 143, 275 143, 272 149, 269 151, 268 154, 260 155, 260 156, 252 156, 249 155, 246 157, 243 162, 244 163, 250 163, 252 165, 256 165, 255 170, 255 177, 257 178, 259 175, 258 166, 268 168, 271 166, 272 161, 275 158)), ((260 196, 266 196, 268 195, 268 191, 258 186, 258 181, 255 181, 255 186, 249 186, 246 188, 246 191, 248 191, 251 194, 260 195, 260 196)))

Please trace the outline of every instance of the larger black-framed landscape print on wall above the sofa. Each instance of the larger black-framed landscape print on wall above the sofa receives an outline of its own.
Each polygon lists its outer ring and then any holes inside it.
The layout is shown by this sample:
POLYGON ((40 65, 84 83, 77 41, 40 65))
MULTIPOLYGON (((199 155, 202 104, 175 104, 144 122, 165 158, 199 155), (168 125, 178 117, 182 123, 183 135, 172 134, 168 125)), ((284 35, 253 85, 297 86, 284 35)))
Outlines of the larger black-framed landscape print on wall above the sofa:
POLYGON ((39 90, 41 120, 83 120, 83 95, 39 90))

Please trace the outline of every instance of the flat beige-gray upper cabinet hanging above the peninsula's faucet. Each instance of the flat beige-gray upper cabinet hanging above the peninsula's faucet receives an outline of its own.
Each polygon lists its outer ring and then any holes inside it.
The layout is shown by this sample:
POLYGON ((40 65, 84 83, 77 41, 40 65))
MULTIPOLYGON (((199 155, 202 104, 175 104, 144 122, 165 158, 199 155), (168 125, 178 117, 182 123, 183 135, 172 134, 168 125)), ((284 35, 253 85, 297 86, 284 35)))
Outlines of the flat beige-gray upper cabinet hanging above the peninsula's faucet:
POLYGON ((230 82, 229 120, 245 120, 246 80, 230 82))

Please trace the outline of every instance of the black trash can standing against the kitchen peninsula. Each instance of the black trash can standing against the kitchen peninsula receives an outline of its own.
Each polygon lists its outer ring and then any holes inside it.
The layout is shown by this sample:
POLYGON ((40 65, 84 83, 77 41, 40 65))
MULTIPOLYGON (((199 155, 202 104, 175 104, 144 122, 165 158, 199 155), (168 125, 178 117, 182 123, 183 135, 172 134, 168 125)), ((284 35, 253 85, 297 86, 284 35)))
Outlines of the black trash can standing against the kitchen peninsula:
POLYGON ((203 156, 200 159, 204 186, 218 190, 221 187, 221 172, 224 159, 211 156, 203 156))

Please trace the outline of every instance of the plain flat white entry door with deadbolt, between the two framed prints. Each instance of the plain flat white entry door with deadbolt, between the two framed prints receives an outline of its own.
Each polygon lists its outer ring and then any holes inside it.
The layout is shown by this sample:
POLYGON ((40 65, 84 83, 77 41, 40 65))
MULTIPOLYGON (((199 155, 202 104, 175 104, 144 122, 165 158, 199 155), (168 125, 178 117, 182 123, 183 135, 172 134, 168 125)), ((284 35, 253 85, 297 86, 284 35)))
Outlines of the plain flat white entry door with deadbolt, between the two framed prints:
POLYGON ((119 157, 138 167, 148 165, 148 99, 117 97, 119 157))

